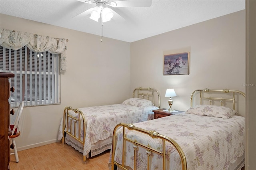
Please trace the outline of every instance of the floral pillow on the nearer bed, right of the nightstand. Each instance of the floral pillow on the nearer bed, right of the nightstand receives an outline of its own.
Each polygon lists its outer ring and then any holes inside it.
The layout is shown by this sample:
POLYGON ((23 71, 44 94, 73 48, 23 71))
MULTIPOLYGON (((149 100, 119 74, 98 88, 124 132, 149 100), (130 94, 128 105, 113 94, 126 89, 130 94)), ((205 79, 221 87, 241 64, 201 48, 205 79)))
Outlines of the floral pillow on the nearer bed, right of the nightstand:
POLYGON ((224 119, 228 119, 230 116, 235 115, 237 112, 233 109, 224 106, 197 105, 188 109, 186 113, 194 115, 222 117, 224 119))

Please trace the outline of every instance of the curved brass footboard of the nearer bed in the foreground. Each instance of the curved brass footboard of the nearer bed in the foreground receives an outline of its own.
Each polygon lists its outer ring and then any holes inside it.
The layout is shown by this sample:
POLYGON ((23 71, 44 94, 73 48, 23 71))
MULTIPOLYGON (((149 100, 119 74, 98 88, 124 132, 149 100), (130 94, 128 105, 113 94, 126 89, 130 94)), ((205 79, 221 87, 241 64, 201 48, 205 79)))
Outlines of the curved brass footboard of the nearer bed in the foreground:
POLYGON ((115 166, 117 166, 118 168, 123 169, 123 170, 128 170, 130 168, 132 168, 133 170, 136 170, 136 160, 137 160, 136 150, 137 150, 138 147, 142 147, 142 148, 146 149, 147 169, 148 170, 150 170, 150 155, 152 154, 152 152, 162 156, 163 170, 166 170, 166 157, 167 157, 167 155, 166 155, 166 144, 167 143, 172 144, 172 146, 174 146, 174 148, 177 150, 177 152, 180 156, 180 160, 181 160, 180 162, 181 162, 182 170, 187 170, 187 162, 186 162, 185 154, 182 151, 182 149, 180 148, 180 146, 178 145, 178 143, 175 142, 173 139, 171 139, 167 136, 161 135, 156 131, 148 131, 148 130, 144 130, 142 128, 135 127, 132 124, 120 123, 120 124, 116 125, 116 127, 114 128, 114 132, 113 132, 111 170, 114 170, 115 166), (116 138, 117 138, 116 131, 120 127, 123 127, 123 129, 122 129, 122 134, 123 134, 122 135, 122 142, 123 142, 122 164, 119 164, 118 162, 115 161, 116 138), (142 143, 138 142, 136 139, 132 140, 132 139, 128 138, 125 134, 125 129, 135 130, 135 131, 138 131, 138 132, 143 133, 143 134, 148 134, 152 138, 158 138, 158 139, 162 140, 162 151, 160 151, 158 149, 155 149, 153 147, 150 147, 149 144, 148 145, 142 144, 142 143), (134 167, 125 166, 125 163, 124 163, 125 162, 125 156, 126 156, 125 150, 127 149, 125 141, 128 141, 128 142, 133 144, 132 147, 134 148, 134 155, 133 155, 134 156, 134 167))

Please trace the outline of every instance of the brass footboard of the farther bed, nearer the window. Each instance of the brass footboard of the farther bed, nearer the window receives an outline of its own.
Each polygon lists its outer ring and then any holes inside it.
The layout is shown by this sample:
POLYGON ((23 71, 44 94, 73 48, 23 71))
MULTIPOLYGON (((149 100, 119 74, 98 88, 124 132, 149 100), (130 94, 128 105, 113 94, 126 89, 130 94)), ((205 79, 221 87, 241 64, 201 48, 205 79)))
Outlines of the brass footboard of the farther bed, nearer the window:
MULTIPOLYGON (((71 107, 65 107, 63 113, 62 144, 65 142, 65 134, 69 134, 84 146, 86 127, 86 120, 82 111, 79 109, 72 109, 71 107)), ((83 156, 83 161, 86 162, 85 155, 83 156)))

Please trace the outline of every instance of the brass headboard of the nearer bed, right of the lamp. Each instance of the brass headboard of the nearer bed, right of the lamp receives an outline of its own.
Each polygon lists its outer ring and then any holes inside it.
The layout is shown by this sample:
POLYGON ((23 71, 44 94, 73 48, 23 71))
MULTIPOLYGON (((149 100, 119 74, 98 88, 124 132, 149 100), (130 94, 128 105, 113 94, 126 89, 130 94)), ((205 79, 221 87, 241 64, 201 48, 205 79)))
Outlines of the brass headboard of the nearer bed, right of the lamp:
MULTIPOLYGON (((220 105, 230 107, 237 111, 238 101, 236 101, 239 96, 244 96, 245 93, 239 90, 211 90, 211 89, 198 89, 193 91, 190 96, 190 107, 193 106, 195 100, 196 92, 200 93, 200 105, 220 105), (212 97, 214 96, 214 97, 212 97), (207 103, 206 103, 207 101, 207 103), (215 104, 216 103, 216 104, 215 104), (228 105, 228 103, 231 103, 228 105)), ((198 103, 199 104, 199 103, 198 103)))

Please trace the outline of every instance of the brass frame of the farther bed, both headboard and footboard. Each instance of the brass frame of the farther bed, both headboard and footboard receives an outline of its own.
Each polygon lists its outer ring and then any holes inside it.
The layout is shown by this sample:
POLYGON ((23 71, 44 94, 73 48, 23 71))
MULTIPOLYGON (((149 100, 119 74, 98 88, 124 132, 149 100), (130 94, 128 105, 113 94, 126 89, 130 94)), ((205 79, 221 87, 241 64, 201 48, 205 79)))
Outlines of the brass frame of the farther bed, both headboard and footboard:
MULTIPOLYGON (((156 89, 153 89, 150 87, 148 88, 138 87, 134 89, 132 93, 132 97, 135 97, 135 96, 137 98, 150 100, 154 103, 155 106, 160 108, 160 94, 156 89), (157 101, 157 103, 155 101, 157 101)), ((72 138, 74 138, 75 140, 80 142, 82 146, 84 146, 85 137, 86 137, 86 127, 87 127, 87 122, 86 122, 86 118, 84 117, 84 113, 82 111, 80 111, 79 109, 72 109, 72 107, 70 106, 65 107, 64 113, 63 113, 62 144, 64 144, 65 142, 65 134, 69 134, 72 138), (70 115, 69 111, 74 111, 75 113, 77 113, 78 116, 74 117, 70 115), (68 120, 72 120, 72 121, 70 121, 69 123, 68 120), (84 135, 83 139, 81 139, 80 135, 78 135, 78 138, 76 137, 76 122, 78 122, 78 130, 79 130, 78 134, 81 134, 80 132, 81 130, 83 130, 83 135, 84 135), (72 123, 74 123, 74 129, 71 129, 72 123), (81 129, 82 125, 83 125, 83 129, 81 129), (66 127, 70 127, 70 131, 65 130, 66 127)), ((86 156, 83 156, 83 161, 86 162, 86 156)))

